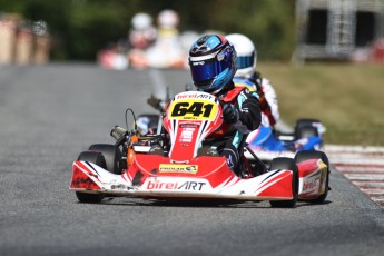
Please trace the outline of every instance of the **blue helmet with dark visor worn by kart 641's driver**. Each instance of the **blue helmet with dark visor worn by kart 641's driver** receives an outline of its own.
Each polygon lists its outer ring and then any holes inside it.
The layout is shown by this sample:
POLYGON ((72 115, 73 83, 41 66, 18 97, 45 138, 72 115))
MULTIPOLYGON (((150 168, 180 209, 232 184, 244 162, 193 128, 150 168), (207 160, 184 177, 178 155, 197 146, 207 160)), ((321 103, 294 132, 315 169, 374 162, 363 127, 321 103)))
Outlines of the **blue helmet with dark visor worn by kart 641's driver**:
POLYGON ((189 50, 189 67, 197 90, 218 93, 236 73, 236 51, 223 36, 200 37, 189 50))

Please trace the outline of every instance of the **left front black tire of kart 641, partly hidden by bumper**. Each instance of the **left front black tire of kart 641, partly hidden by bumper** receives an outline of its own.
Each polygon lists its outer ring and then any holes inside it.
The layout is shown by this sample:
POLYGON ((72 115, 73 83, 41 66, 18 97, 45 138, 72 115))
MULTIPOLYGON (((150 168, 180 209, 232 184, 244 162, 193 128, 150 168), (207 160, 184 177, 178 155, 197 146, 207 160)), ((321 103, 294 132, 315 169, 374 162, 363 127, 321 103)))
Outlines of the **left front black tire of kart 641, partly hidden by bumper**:
MULTIPOLYGON (((106 168, 106 159, 104 158, 101 152, 83 151, 79 155, 77 159, 80 161, 90 161, 95 165, 106 168)), ((100 203, 105 196, 102 194, 89 194, 89 193, 76 191, 76 197, 78 198, 80 203, 96 204, 96 203, 100 203)))

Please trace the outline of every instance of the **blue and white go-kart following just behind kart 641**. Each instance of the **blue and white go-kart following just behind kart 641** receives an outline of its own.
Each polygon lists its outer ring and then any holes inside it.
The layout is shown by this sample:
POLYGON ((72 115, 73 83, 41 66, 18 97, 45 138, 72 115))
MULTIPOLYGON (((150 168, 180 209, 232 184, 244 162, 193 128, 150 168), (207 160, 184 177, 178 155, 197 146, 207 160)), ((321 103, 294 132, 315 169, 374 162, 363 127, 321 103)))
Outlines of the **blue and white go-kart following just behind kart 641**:
MULTIPOLYGON (((249 148, 264 163, 269 163, 275 157, 294 158, 301 150, 321 150, 324 144, 325 127, 318 119, 303 118, 296 121, 294 131, 282 134, 272 127, 260 126, 247 137, 249 148)), ((252 158, 249 152, 245 152, 252 158)))

